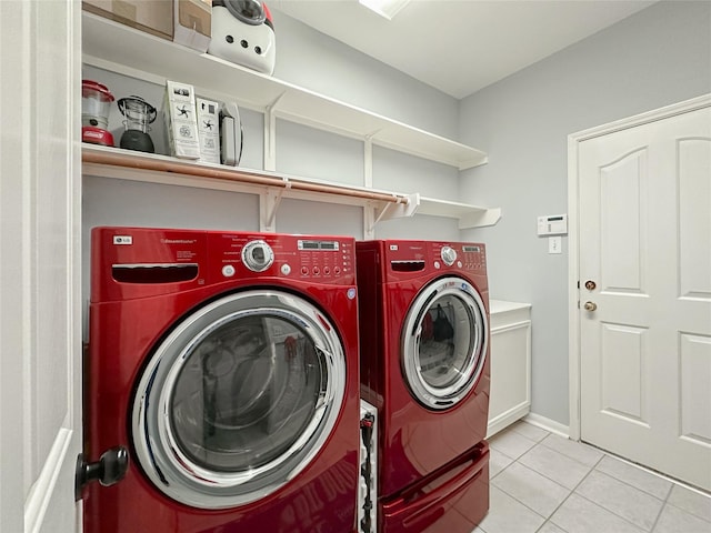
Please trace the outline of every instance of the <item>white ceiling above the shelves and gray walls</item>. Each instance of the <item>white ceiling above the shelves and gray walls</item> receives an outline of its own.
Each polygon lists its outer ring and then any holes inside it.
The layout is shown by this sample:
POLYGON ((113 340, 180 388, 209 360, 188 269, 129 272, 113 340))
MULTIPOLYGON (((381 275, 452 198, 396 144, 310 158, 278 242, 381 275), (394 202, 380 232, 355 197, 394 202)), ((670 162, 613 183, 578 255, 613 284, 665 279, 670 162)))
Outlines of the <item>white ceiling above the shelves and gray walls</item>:
POLYGON ((461 99, 654 1, 413 0, 391 21, 358 0, 266 3, 461 99))

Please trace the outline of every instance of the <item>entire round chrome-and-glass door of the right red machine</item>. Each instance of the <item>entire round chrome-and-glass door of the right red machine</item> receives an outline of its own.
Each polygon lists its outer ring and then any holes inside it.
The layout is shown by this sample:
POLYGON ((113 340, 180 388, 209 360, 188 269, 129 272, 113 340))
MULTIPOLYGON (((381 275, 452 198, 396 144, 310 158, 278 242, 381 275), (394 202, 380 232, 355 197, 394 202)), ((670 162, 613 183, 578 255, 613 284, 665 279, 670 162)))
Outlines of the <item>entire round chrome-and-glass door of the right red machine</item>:
POLYGON ((455 405, 477 384, 488 342, 485 308, 471 283, 449 276, 427 285, 402 330, 402 370, 412 395, 433 410, 455 405))

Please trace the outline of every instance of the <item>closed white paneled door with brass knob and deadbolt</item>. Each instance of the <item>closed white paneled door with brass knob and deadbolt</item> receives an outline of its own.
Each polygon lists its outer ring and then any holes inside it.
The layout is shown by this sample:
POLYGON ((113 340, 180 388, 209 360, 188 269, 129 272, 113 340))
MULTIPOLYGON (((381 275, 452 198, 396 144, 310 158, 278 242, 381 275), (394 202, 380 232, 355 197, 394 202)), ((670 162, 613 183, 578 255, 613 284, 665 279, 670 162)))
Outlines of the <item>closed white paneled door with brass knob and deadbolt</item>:
POLYGON ((581 439, 711 490, 711 108, 578 158, 581 439))

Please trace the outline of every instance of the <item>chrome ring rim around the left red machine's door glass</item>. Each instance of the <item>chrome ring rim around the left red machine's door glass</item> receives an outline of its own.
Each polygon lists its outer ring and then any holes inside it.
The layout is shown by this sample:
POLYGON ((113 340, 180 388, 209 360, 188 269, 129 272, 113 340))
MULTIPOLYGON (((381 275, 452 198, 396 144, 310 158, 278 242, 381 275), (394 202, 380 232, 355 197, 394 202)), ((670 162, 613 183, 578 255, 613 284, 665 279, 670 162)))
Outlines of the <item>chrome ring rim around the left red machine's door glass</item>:
POLYGON ((336 329, 311 303, 271 290, 223 296, 180 322, 151 355, 133 400, 131 425, 138 460, 161 492, 193 507, 228 509, 260 500, 294 479, 321 450, 340 413, 346 372, 336 329), (220 324, 249 315, 293 321, 313 343, 321 365, 316 409, 306 431, 283 455, 241 472, 210 470, 192 461, 177 442, 170 413, 173 390, 200 340, 220 324))

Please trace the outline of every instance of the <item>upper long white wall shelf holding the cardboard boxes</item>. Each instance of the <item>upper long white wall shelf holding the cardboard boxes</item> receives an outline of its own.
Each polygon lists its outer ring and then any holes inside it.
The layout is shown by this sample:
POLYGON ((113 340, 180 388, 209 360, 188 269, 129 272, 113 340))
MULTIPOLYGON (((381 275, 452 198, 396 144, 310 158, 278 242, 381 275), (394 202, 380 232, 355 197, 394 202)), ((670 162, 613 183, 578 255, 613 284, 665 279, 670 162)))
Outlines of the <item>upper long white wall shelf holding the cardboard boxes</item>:
POLYGON ((474 148, 340 102, 260 72, 199 53, 83 12, 84 63, 158 83, 190 83, 206 97, 237 100, 278 117, 437 161, 459 170, 487 162, 474 148), (149 52, 150 51, 150 52, 149 52))

